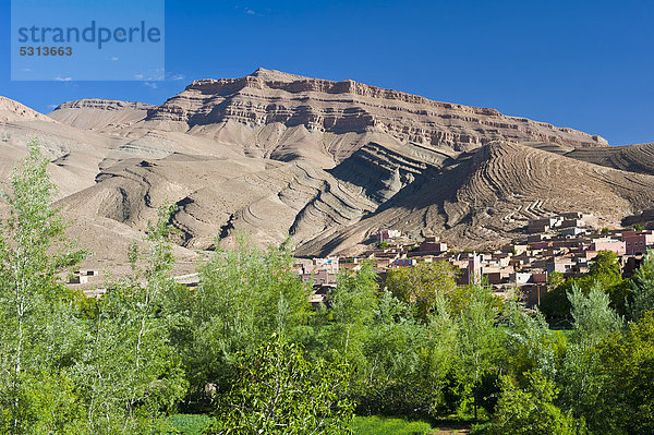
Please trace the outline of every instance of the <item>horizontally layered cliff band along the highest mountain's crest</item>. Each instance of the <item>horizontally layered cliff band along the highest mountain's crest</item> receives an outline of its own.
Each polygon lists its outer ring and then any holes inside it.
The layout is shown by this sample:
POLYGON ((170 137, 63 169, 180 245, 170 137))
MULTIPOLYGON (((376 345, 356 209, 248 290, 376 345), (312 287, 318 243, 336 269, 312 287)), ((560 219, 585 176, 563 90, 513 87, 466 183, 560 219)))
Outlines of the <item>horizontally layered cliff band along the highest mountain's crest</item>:
POLYGON ((201 80, 146 120, 190 129, 229 120, 261 126, 281 123, 342 134, 374 129, 398 140, 455 150, 497 140, 606 146, 597 135, 501 114, 495 109, 433 101, 353 81, 331 82, 259 69, 240 78, 201 80))

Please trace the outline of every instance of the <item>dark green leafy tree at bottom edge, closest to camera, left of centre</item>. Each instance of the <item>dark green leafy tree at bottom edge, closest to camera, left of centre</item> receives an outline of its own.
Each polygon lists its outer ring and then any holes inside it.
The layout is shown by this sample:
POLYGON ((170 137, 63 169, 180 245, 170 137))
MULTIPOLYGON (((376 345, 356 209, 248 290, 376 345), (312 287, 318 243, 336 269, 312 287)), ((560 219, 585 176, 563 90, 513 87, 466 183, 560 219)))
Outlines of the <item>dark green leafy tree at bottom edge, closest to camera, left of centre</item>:
POLYGON ((211 434, 347 434, 354 404, 349 367, 307 362, 299 345, 278 336, 238 355, 231 390, 218 400, 211 434))

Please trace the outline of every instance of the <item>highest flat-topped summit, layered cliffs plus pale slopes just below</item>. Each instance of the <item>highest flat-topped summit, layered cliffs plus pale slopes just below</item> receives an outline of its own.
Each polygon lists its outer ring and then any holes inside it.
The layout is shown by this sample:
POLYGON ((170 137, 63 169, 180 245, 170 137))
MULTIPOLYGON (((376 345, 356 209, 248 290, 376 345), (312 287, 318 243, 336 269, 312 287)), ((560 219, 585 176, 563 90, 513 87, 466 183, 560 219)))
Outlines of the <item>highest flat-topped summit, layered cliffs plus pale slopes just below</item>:
POLYGON ((597 135, 507 117, 495 109, 264 69, 240 78, 193 82, 149 109, 145 124, 235 142, 253 157, 286 161, 305 157, 325 167, 372 142, 371 135, 453 152, 499 140, 607 145, 597 135))

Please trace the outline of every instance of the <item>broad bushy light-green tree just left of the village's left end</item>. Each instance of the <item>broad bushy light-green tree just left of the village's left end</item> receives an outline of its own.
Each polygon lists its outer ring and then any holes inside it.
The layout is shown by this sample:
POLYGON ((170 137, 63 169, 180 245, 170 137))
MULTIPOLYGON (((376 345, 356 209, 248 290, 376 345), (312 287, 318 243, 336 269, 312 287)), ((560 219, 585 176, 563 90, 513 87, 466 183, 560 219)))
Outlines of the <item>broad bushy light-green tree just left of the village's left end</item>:
POLYGON ((292 341, 308 317, 310 288, 293 271, 288 246, 259 250, 245 238, 235 250, 217 246, 174 334, 198 396, 207 384, 230 387, 237 353, 254 352, 271 334, 292 341))

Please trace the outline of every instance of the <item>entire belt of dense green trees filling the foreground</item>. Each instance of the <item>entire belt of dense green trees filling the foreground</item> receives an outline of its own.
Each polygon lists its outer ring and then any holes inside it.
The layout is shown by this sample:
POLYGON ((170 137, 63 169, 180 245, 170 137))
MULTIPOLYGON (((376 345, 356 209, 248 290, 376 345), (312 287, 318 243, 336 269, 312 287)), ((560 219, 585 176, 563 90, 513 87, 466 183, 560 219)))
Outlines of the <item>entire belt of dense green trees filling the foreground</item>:
POLYGON ((3 196, 1 433, 428 431, 398 416, 474 418, 492 434, 654 432, 651 254, 629 279, 609 253, 584 277, 553 275, 544 311, 564 334, 517 297, 456 286, 444 263, 385 282, 363 264, 312 307, 288 246, 245 238, 218 241, 198 287, 179 286, 165 206, 149 250, 125 253, 132 275, 86 299, 60 278, 86 252, 63 238, 46 164, 31 144, 3 196))

